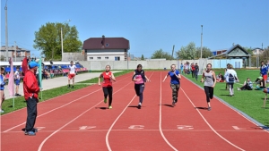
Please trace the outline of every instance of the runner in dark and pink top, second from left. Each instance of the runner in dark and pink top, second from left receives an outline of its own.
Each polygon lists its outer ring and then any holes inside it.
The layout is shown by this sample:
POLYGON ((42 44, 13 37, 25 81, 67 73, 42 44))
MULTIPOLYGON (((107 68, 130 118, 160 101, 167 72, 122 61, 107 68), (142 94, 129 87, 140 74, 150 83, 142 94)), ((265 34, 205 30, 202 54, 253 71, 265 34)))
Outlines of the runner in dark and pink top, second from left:
POLYGON ((141 109, 141 105, 143 103, 143 89, 144 83, 146 81, 151 81, 145 75, 145 72, 142 70, 142 65, 138 64, 136 70, 134 70, 134 76, 132 78, 134 81, 134 89, 136 96, 139 96, 138 109, 141 109))

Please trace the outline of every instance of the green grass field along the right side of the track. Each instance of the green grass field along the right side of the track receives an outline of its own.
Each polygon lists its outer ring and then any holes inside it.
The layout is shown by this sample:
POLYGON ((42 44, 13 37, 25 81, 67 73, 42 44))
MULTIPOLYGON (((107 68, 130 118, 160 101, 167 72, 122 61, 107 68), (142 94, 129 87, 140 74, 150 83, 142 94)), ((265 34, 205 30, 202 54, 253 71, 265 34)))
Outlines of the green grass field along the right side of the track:
MULTIPOLYGON (((224 74, 224 70, 213 70, 216 74, 221 72, 224 74)), ((217 83, 214 88, 214 95, 220 97, 222 100, 228 104, 239 109, 243 113, 247 113, 248 116, 255 119, 257 122, 261 122, 265 126, 269 126, 269 100, 266 101, 265 108, 262 108, 264 105, 265 93, 262 90, 242 90, 238 91, 237 87, 241 87, 247 78, 250 78, 251 81, 255 81, 259 76, 258 70, 236 70, 239 77, 239 83, 234 84, 235 96, 229 96, 229 90, 225 89, 226 83, 217 83), (241 84, 241 85, 240 85, 241 84)), ((191 74, 183 74, 189 80, 192 80, 197 85, 204 88, 204 84, 200 82, 201 76, 199 79, 195 80, 191 77, 191 74)), ((256 85, 254 85, 255 87, 256 85)), ((267 84, 268 87, 268 84, 267 84)), ((232 118, 232 117, 231 117, 232 118)))

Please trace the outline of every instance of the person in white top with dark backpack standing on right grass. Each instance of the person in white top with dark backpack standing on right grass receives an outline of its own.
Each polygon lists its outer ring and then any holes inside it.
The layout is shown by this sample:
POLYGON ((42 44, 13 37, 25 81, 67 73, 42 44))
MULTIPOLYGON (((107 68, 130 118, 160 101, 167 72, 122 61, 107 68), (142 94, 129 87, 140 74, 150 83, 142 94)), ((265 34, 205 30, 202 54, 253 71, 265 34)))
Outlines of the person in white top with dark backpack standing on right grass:
POLYGON ((224 78, 226 79, 226 83, 229 85, 230 96, 234 96, 233 84, 235 81, 239 81, 239 78, 237 72, 232 69, 231 64, 228 64, 227 67, 224 78))

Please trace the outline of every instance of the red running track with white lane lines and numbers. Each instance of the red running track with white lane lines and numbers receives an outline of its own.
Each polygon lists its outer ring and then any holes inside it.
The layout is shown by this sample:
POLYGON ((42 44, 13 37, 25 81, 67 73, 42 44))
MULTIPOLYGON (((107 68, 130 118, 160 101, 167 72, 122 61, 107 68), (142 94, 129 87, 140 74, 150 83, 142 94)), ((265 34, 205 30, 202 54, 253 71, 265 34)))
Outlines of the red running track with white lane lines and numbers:
POLYGON ((204 91, 181 80, 178 104, 171 104, 167 71, 147 71, 141 110, 132 73, 114 82, 113 109, 93 85, 38 105, 36 136, 24 136, 26 109, 1 116, 3 151, 268 150, 269 133, 213 98, 204 110, 204 91))

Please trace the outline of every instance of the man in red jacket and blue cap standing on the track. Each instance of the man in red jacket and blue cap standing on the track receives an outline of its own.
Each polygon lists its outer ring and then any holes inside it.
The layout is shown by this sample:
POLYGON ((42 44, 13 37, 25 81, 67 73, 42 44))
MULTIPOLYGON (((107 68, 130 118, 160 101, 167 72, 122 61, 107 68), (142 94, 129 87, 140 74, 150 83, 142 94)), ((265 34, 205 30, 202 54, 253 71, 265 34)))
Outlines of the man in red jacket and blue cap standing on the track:
POLYGON ((25 73, 23 78, 23 92, 27 103, 27 121, 25 125, 25 135, 36 135, 37 129, 34 128, 37 119, 37 105, 39 102, 39 83, 35 76, 38 71, 39 63, 30 62, 29 71, 25 73))

